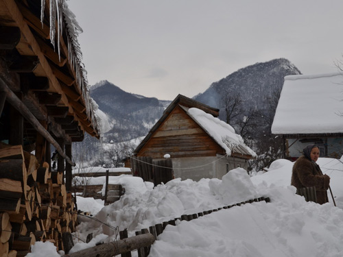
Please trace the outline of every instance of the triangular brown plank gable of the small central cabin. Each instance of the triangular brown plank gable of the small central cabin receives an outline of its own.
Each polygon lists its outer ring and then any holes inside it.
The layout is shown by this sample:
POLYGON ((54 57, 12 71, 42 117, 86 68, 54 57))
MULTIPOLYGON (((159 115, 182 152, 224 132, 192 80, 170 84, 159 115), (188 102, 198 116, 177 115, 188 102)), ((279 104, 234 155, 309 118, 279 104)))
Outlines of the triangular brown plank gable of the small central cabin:
POLYGON ((152 158, 163 158, 165 154, 171 158, 215 156, 224 154, 224 149, 176 105, 137 151, 137 156, 152 158))

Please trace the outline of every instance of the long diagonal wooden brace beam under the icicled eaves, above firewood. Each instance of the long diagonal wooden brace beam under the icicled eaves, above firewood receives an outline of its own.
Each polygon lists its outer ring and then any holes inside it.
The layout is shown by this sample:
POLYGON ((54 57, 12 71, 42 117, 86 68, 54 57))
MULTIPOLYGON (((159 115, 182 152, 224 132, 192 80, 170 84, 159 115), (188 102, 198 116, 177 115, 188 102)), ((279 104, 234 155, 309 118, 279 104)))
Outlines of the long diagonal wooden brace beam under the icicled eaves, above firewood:
POLYGON ((23 102, 8 88, 8 86, 5 84, 3 79, 0 77, 0 91, 5 91, 7 93, 7 99, 8 102, 16 108, 21 114, 25 117, 29 123, 32 124, 32 126, 36 129, 37 132, 42 134, 51 145, 54 145, 60 156, 62 158, 66 159, 67 162, 69 162, 71 165, 75 166, 75 163, 68 157, 66 154, 64 154, 64 151, 62 151, 60 145, 56 142, 56 140, 45 130, 45 128, 39 123, 39 121, 34 117, 34 115, 27 109, 27 107, 23 104, 23 102))

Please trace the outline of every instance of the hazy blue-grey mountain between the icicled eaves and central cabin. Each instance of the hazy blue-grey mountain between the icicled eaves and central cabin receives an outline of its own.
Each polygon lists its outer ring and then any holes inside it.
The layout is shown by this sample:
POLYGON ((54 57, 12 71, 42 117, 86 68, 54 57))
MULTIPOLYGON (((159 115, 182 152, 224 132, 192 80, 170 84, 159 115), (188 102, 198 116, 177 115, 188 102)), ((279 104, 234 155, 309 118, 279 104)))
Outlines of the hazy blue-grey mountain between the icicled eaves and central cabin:
POLYGON ((91 97, 97 102, 99 110, 108 116, 111 129, 104 135, 108 142, 145 136, 170 103, 127 93, 106 80, 91 87, 91 97))

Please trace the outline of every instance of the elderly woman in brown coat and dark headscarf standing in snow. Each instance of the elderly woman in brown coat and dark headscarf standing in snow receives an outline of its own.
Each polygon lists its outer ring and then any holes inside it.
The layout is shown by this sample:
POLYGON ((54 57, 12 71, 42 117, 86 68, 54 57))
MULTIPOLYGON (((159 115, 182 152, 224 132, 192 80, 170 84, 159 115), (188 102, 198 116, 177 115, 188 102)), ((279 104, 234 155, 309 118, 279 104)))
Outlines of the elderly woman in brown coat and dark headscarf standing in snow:
POLYGON ((304 156, 296 160, 292 170, 292 186, 296 188, 316 187, 317 203, 324 204, 327 198, 327 189, 330 184, 330 177, 322 175, 322 171, 316 161, 319 157, 318 145, 307 145, 303 149, 304 156))

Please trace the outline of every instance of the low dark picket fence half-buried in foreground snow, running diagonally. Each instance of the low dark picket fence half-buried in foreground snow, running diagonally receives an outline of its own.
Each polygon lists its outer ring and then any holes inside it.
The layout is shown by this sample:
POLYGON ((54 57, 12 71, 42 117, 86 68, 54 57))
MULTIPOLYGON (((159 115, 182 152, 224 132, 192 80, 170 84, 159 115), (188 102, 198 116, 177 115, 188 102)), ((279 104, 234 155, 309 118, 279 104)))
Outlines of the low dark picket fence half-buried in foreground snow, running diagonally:
MULTIPOLYGON (((233 205, 230 205, 230 206, 223 206, 221 208, 217 208, 217 209, 213 209, 213 210, 205 210, 204 212, 198 212, 198 213, 194 213, 192 215, 181 215, 181 217, 178 217, 176 219, 171 219, 170 221, 164 221, 163 223, 152 225, 152 226, 149 227, 149 229, 143 228, 140 231, 136 231, 135 234, 136 235, 140 235, 140 234, 148 234, 148 233, 150 233, 150 234, 152 234, 154 236, 154 238, 156 240, 157 236, 159 234, 161 234, 163 232, 163 230, 165 230, 167 225, 176 225, 176 221, 177 220, 179 220, 179 221, 191 221, 193 219, 198 219, 198 217, 202 217, 204 215, 209 215, 212 212, 217 212, 218 210, 229 209, 229 208, 232 208, 234 206, 241 206, 241 205, 244 205, 244 204, 251 204, 251 203, 257 202, 257 201, 270 202, 270 198, 269 197, 266 197, 266 198, 265 197, 259 197, 259 198, 251 199, 251 200, 248 200, 248 201, 242 201, 240 203, 233 204, 233 205)), ((128 230, 120 231, 119 232, 119 236, 120 236, 121 240, 123 240, 125 238, 128 238, 128 230)), ((145 246, 145 247, 141 247, 141 248, 137 249, 138 256, 139 257, 146 257, 146 256, 148 256, 149 253, 150 253, 150 247, 151 247, 151 245, 145 246)), ((131 252, 127 252, 125 254, 121 254, 121 257, 131 257, 131 252)))

